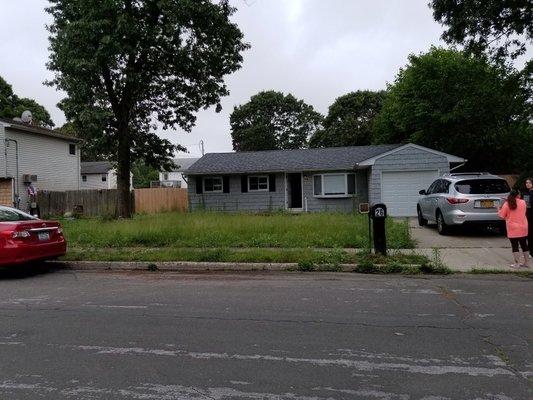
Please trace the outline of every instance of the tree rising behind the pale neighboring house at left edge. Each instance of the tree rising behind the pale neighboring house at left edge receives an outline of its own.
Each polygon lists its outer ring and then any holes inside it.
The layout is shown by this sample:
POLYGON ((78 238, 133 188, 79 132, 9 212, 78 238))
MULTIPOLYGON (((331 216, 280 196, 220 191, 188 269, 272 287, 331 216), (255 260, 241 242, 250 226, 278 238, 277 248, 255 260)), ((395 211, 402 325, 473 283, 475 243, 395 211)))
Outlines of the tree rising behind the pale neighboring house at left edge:
POLYGON ((33 124, 52 128, 54 122, 50 113, 35 100, 20 98, 13 93, 12 86, 0 76, 0 118, 13 119, 20 117, 26 110, 31 111, 33 124))

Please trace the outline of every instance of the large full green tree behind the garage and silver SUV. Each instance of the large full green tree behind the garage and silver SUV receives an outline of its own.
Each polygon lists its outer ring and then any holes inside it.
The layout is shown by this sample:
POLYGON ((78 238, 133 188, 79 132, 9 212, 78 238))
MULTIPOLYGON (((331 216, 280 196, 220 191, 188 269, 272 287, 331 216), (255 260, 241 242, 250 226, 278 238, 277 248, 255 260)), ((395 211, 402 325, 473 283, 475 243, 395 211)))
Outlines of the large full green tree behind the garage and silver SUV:
POLYGON ((512 172, 531 154, 522 78, 455 50, 411 55, 388 88, 376 142, 418 143, 467 158, 470 170, 512 172))

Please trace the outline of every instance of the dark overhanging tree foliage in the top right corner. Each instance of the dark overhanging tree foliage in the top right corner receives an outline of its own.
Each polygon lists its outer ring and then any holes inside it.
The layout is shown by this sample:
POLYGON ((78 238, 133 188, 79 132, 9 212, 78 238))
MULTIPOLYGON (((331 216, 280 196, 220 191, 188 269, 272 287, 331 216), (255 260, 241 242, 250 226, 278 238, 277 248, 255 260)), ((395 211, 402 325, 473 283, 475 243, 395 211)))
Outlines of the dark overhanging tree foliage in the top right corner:
POLYGON ((433 16, 447 26, 442 38, 476 55, 516 58, 533 43, 531 0, 432 0, 433 16))

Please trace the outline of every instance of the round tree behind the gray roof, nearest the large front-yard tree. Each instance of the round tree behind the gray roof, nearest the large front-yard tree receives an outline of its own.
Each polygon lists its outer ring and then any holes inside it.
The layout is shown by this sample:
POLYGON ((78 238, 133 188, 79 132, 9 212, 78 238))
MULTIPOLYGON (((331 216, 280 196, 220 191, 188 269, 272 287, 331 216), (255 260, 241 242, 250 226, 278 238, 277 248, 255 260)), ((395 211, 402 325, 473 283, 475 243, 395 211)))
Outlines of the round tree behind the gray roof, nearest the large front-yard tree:
POLYGON ((230 116, 235 151, 300 149, 320 127, 312 106, 273 90, 260 92, 235 107, 230 116))

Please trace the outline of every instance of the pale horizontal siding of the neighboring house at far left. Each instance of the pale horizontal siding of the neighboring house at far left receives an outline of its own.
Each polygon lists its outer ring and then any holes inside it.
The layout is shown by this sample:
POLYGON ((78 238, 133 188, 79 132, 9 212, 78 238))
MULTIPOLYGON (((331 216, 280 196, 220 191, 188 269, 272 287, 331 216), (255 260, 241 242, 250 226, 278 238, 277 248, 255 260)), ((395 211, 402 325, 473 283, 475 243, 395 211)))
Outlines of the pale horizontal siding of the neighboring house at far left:
MULTIPOLYGON (((28 208, 26 185, 22 175, 37 175, 35 187, 38 190, 78 190, 80 188, 80 149, 76 146, 76 155, 69 154, 69 142, 28 132, 18 132, 7 128, 6 138, 18 142, 19 172, 16 169, 16 147, 10 145, 7 150, 7 176, 17 178, 20 195, 20 208, 28 208)), ((72 142, 74 143, 74 142, 72 142)))

